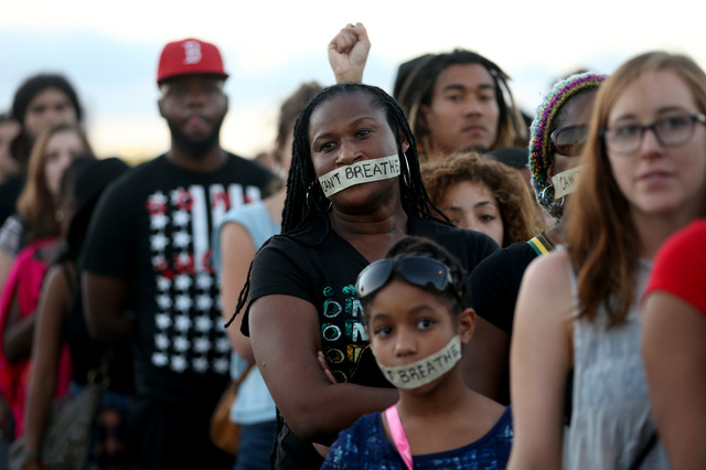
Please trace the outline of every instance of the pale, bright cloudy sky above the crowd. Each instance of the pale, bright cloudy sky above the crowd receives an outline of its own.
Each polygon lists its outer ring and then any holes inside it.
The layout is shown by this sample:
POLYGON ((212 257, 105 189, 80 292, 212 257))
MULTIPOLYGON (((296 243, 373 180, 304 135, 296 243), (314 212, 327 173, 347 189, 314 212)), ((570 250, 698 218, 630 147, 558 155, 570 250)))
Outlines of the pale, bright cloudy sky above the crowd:
POLYGON ((556 78, 578 68, 610 74, 649 50, 706 68, 698 0, 596 0, 590 10, 556 0, 23 0, 0 10, 0 111, 28 76, 62 73, 83 100, 96 153, 130 160, 169 146, 157 63, 164 44, 184 38, 221 49, 231 74, 222 143, 248 158, 272 147, 278 106, 300 83, 333 83, 327 46, 351 22, 372 42, 364 82, 392 92, 402 62, 464 47, 511 76, 530 115, 556 78))

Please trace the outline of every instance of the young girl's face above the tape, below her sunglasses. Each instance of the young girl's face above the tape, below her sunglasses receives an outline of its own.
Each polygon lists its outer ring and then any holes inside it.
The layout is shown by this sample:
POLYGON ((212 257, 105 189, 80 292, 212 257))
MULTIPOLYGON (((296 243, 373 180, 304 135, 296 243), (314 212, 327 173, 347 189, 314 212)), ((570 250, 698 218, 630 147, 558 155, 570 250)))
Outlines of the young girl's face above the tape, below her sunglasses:
POLYGON ((411 364, 440 351, 456 335, 473 330, 472 311, 457 319, 438 293, 393 279, 367 306, 367 332, 376 360, 387 366, 411 364))

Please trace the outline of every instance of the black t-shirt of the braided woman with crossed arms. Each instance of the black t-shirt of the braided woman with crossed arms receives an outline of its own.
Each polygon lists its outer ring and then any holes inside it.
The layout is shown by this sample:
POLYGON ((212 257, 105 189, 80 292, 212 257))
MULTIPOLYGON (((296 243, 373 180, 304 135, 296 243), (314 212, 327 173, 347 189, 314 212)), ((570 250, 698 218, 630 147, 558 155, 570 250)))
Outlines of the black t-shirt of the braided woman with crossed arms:
MULTIPOLYGON (((469 273, 499 249, 485 234, 434 221, 410 216, 408 228, 409 235, 428 237, 446 247, 469 273)), ((331 229, 328 218, 319 218, 297 234, 272 237, 253 264, 244 333, 248 334, 247 318, 253 301, 268 295, 298 297, 319 312, 323 353, 336 381, 392 387, 370 351, 362 308, 355 297, 355 280, 367 265, 360 252, 331 229)), ((307 464, 312 461, 321 464, 310 445, 295 444, 296 440, 285 424, 278 440, 279 468, 309 468, 307 464), (295 457, 302 450, 311 458, 308 463, 301 460, 302 456, 295 457)))

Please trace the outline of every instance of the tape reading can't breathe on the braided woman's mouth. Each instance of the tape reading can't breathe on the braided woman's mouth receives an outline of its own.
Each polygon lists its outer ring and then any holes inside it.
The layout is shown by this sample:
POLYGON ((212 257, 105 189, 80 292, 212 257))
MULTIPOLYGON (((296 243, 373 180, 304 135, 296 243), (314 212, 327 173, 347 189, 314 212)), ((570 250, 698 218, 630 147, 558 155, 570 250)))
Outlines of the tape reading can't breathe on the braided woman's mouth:
POLYGON ((373 160, 363 160, 336 168, 319 177, 319 184, 327 197, 355 184, 388 180, 399 177, 399 156, 396 153, 373 160))

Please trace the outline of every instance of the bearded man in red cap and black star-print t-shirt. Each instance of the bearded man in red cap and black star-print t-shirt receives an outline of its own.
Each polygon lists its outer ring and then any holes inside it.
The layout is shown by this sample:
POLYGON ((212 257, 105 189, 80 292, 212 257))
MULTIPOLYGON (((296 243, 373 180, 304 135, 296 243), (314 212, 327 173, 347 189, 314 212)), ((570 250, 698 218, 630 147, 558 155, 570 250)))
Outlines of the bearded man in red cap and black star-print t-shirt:
POLYGON ((132 334, 129 451, 139 469, 233 466, 208 438, 231 354, 212 231, 228 209, 259 200, 274 177, 221 148, 227 76, 215 45, 167 44, 157 83, 171 147, 106 191, 84 249, 92 333, 105 340, 132 334))

